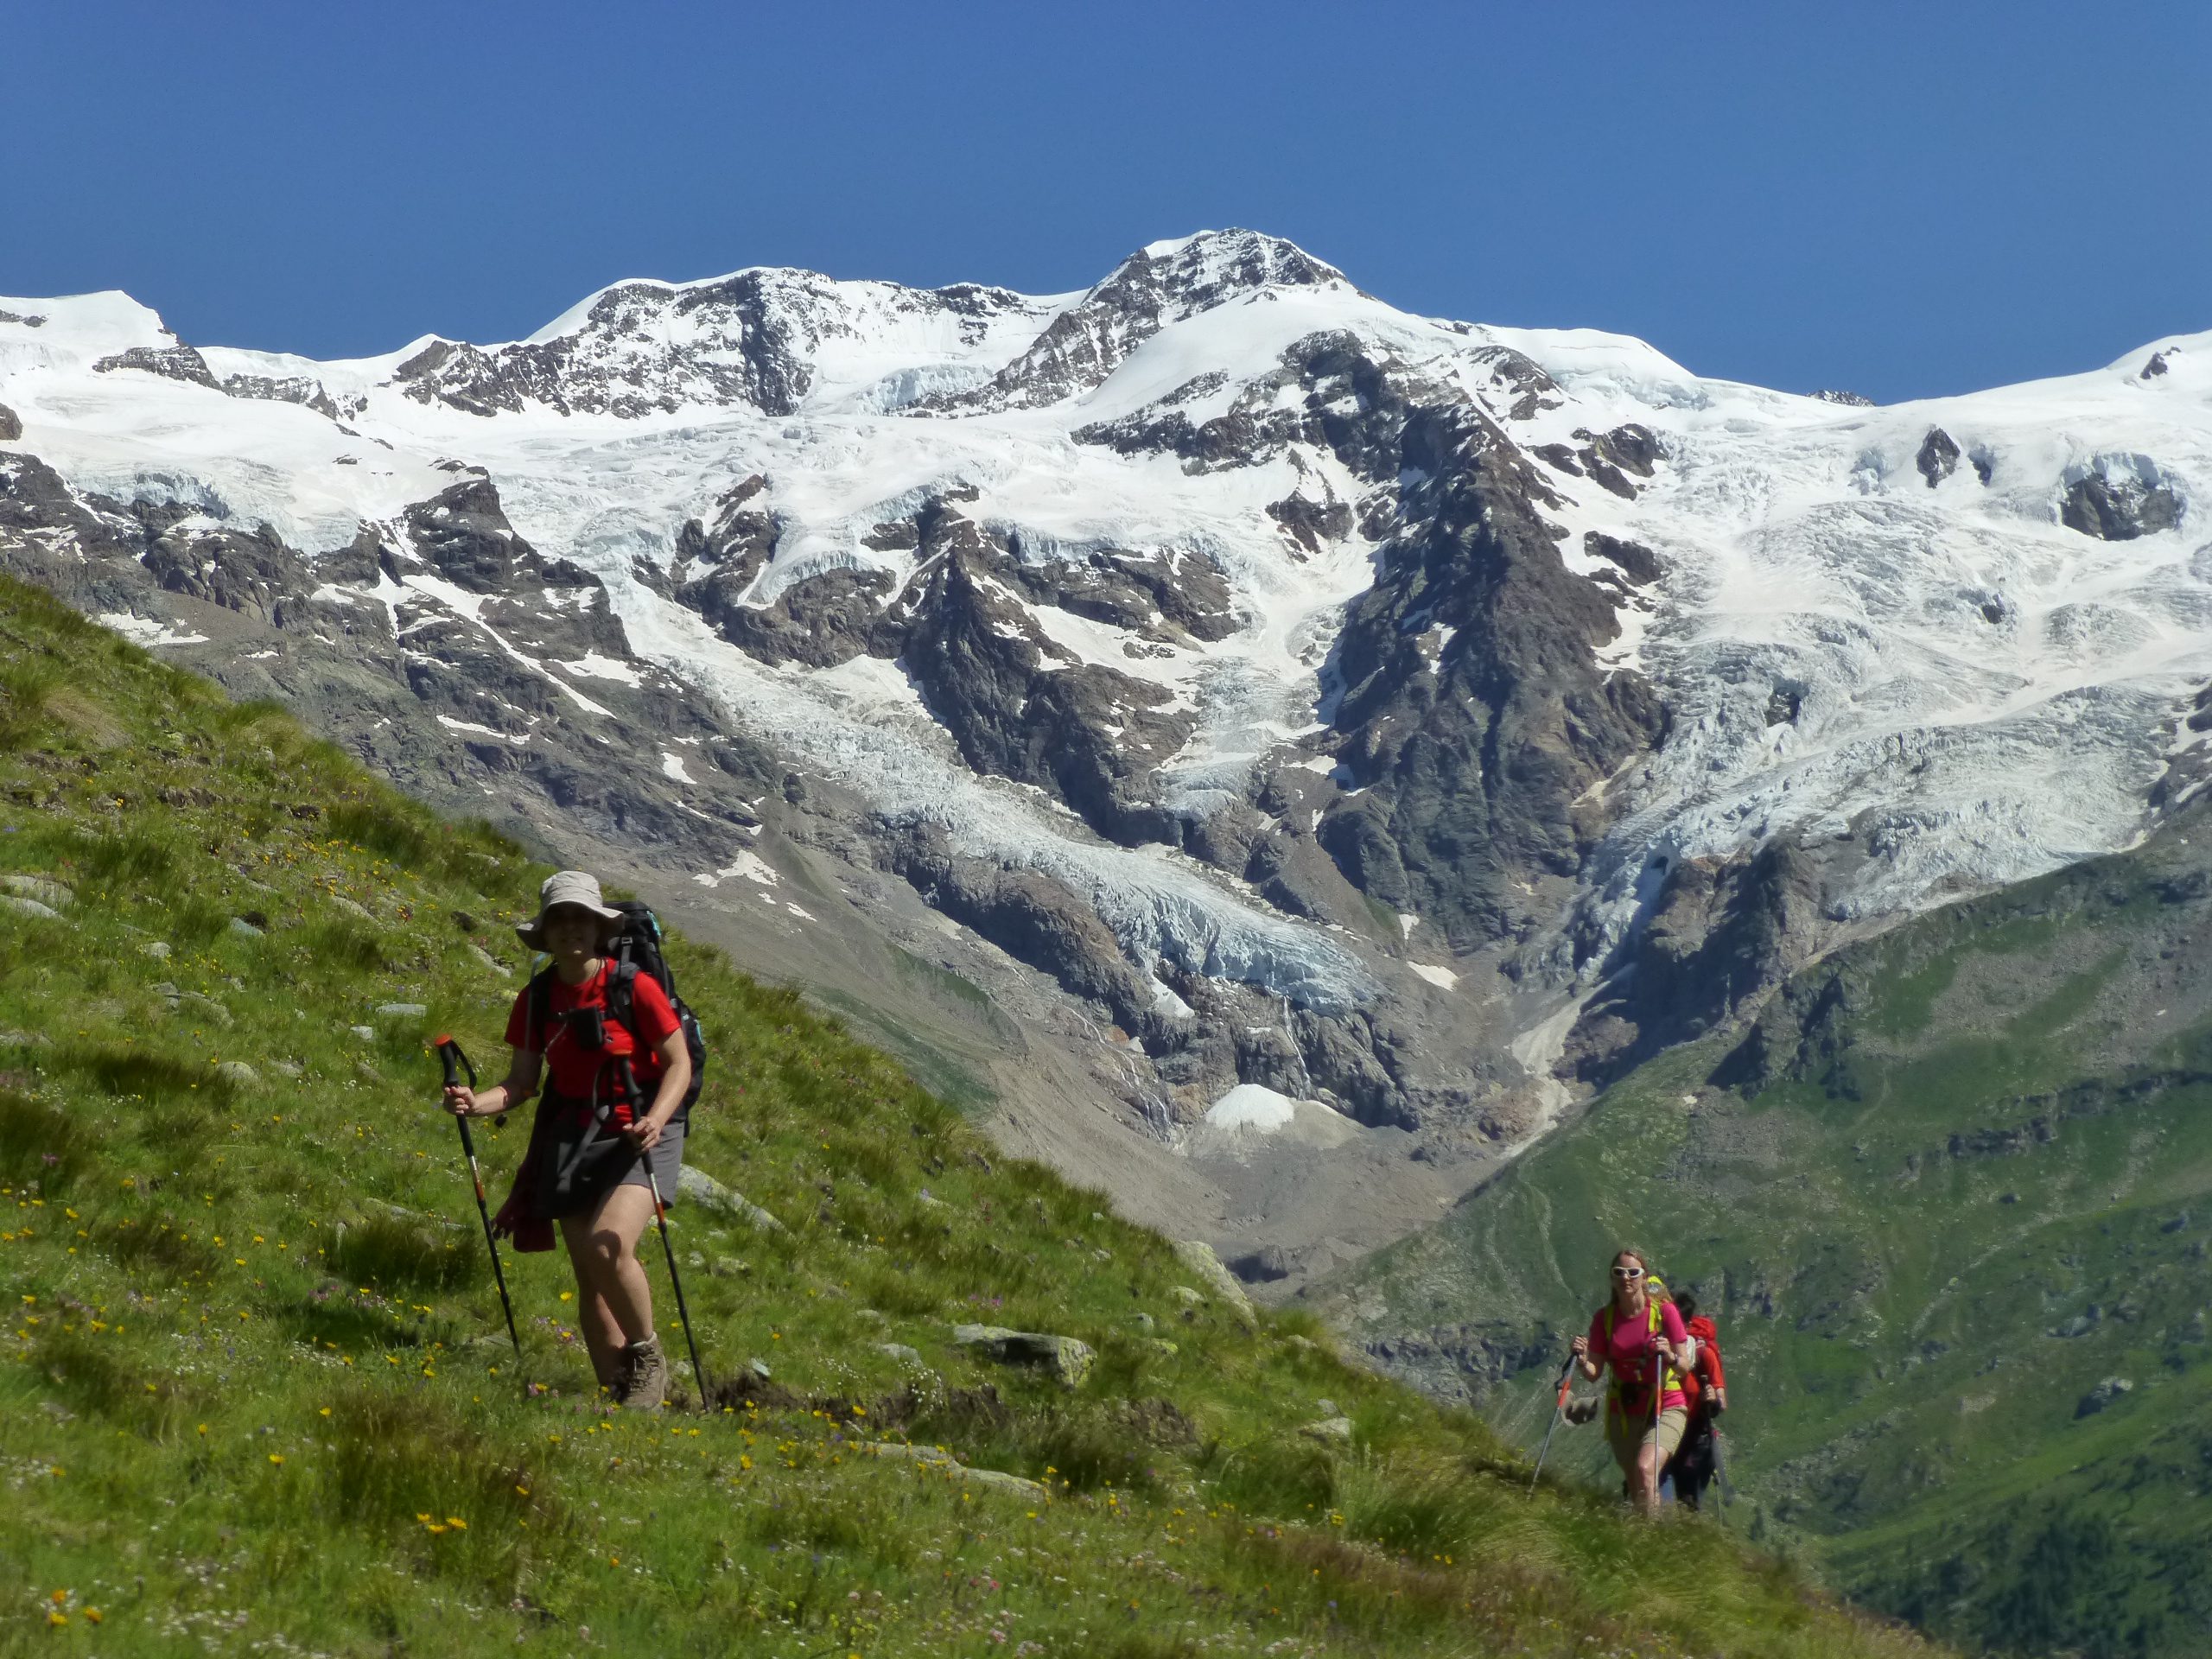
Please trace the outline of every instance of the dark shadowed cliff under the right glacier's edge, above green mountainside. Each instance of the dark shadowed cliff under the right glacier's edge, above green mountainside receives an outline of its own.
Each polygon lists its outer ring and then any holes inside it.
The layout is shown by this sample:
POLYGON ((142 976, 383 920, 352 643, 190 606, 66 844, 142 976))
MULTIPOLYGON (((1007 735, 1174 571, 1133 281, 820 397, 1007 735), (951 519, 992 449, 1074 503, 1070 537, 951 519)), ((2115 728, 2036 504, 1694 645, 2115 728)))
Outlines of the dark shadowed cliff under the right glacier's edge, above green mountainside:
POLYGON ((1820 920, 1812 860, 1770 841, 1747 860, 1686 858, 1666 872, 1628 962, 1568 1040, 1573 1073, 1610 1082, 1756 1004, 1803 962, 1820 920))

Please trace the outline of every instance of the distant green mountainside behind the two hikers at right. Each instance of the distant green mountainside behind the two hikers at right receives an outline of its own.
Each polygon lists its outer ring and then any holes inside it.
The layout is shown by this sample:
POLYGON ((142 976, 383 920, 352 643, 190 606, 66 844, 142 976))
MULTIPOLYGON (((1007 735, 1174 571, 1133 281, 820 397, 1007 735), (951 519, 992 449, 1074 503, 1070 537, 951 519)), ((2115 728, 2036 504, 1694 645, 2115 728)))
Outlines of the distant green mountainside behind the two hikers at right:
POLYGON ((1338 1296, 1416 1365, 1515 1371, 1486 1407, 1531 1440, 1528 1360, 1644 1241, 1721 1314, 1761 1535, 1953 1639, 2208 1652, 2208 947, 2190 810, 1807 971, 1338 1296))

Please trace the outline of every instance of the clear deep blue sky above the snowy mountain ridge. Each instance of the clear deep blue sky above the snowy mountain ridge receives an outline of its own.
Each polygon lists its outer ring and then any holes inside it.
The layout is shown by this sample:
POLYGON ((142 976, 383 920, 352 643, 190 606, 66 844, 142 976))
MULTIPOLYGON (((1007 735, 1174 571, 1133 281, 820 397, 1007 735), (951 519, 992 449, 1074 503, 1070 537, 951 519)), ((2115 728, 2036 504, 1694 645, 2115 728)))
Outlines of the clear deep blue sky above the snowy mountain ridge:
POLYGON ((1964 392, 2212 327, 2212 7, 7 9, 0 292, 312 356, 619 276, 1084 288, 1254 226, 1407 310, 1964 392))

